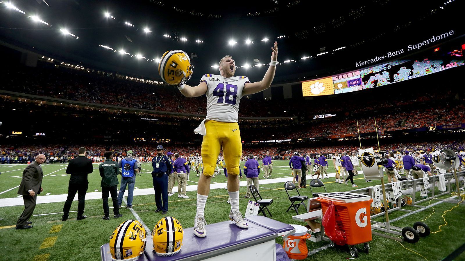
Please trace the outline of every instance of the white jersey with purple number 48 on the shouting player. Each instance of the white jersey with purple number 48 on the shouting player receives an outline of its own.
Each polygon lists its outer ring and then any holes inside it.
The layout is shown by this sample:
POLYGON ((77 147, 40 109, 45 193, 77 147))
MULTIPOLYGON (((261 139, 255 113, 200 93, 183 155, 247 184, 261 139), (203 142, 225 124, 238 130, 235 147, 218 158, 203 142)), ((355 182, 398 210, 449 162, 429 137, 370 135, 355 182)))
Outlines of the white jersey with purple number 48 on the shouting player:
POLYGON ((237 122, 239 101, 244 85, 250 83, 245 76, 225 78, 216 74, 205 74, 200 83, 205 82, 206 118, 219 122, 237 122))

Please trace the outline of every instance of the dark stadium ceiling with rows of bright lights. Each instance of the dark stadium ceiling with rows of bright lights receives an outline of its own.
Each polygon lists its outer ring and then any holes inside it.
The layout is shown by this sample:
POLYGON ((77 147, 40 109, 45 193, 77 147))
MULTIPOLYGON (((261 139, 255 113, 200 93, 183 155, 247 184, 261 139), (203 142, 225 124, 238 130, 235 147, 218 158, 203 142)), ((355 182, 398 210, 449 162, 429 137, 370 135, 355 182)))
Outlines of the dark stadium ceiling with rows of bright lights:
POLYGON ((237 75, 252 80, 263 76, 277 41, 282 62, 277 79, 284 82, 355 69, 355 60, 449 31, 454 23, 463 32, 461 2, 3 1, 0 40, 56 59, 155 79, 157 59, 168 50, 191 56, 194 78, 218 73, 214 65, 230 54, 239 66, 237 75))

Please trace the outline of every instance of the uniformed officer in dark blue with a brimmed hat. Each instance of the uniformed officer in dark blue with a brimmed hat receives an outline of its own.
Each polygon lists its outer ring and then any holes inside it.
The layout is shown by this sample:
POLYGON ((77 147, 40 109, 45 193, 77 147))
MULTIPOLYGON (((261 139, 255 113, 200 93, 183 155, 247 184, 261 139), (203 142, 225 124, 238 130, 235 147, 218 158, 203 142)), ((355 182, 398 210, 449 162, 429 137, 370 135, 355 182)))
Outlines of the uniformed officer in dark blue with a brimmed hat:
POLYGON ((172 162, 168 156, 163 155, 162 145, 157 146, 157 156, 152 159, 152 167, 153 189, 157 205, 155 212, 162 211, 161 214, 165 215, 168 212, 168 174, 171 173, 172 162))

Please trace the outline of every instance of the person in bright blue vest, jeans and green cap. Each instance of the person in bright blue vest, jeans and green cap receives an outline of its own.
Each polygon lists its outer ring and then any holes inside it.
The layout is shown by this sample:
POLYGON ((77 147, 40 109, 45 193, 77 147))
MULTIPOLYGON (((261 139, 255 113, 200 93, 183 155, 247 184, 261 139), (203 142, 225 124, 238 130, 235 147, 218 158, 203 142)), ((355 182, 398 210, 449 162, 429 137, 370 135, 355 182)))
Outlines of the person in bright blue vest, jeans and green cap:
POLYGON ((120 193, 118 194, 118 205, 119 207, 121 207, 121 203, 123 202, 124 191, 126 191, 127 185, 126 208, 129 209, 133 207, 133 192, 134 185, 136 183, 135 173, 140 172, 140 163, 137 161, 137 159, 133 158, 133 151, 128 150, 126 151, 126 157, 118 163, 118 167, 121 168, 122 176, 120 193))

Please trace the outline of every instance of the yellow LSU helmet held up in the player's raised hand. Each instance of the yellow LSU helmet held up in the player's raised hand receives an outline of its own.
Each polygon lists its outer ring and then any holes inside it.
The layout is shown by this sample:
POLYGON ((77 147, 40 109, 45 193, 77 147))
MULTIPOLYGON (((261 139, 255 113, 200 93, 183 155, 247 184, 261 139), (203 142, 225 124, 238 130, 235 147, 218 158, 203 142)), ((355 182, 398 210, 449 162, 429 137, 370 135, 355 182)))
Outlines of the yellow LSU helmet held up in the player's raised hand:
POLYGON ((191 59, 182 50, 167 51, 160 59, 158 72, 169 85, 183 85, 192 77, 191 59))

